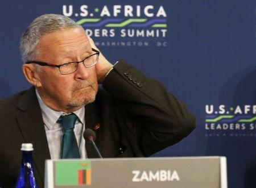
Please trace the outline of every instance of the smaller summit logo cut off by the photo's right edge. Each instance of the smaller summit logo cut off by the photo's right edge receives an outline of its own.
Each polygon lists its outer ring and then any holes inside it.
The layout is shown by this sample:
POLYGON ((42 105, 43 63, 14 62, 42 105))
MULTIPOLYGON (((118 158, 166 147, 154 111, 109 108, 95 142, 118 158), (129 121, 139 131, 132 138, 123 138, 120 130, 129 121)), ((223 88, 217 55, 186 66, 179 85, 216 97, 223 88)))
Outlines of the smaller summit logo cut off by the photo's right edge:
POLYGON ((256 105, 205 105, 206 136, 256 136, 256 105))

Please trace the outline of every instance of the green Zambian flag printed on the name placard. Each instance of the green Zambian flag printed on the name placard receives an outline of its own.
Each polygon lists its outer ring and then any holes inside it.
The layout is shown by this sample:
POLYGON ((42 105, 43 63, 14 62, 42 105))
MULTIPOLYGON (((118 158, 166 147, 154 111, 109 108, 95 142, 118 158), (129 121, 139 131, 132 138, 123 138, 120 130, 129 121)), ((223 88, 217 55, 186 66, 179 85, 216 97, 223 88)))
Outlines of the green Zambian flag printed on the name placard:
POLYGON ((56 161, 55 185, 91 185, 90 161, 56 161))

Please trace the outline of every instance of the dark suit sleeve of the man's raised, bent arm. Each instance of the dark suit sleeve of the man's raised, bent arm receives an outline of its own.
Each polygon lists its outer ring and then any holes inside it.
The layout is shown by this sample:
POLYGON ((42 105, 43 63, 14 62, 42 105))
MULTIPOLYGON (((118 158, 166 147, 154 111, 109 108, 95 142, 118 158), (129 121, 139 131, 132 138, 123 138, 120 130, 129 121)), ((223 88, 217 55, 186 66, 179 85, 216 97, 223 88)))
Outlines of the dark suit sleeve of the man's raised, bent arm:
POLYGON ((110 71, 103 87, 125 106, 129 118, 137 124, 145 156, 177 143, 195 128, 195 118, 183 102, 124 60, 110 71))

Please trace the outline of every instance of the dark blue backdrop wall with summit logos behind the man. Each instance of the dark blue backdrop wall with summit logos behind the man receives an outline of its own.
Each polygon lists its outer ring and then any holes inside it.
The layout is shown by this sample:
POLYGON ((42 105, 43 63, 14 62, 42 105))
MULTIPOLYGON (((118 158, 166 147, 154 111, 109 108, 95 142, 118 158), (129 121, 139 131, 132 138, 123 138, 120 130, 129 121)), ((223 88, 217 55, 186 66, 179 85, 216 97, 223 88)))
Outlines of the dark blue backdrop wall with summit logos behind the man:
MULTIPOLYGON (((163 82, 197 118, 156 156, 226 156, 229 187, 256 187, 255 1, 1 1, 0 98, 29 87, 19 38, 46 13, 76 20, 112 62, 163 82)), ((1 123, 1 122, 0 122, 1 123)))

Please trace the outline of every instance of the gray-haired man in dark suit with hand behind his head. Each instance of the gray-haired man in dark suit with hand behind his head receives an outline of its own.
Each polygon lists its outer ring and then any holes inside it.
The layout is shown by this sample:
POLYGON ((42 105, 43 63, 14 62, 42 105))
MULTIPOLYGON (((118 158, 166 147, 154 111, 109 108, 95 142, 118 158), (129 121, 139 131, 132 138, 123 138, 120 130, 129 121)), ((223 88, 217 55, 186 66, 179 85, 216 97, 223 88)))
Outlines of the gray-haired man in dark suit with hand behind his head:
POLYGON ((36 18, 20 51, 33 86, 0 102, 3 187, 15 185, 22 143, 34 145, 43 187, 46 159, 97 157, 82 137, 85 128, 96 132, 103 157, 147 157, 195 127, 195 118, 161 83, 124 60, 110 64, 83 28, 63 15, 36 18))

